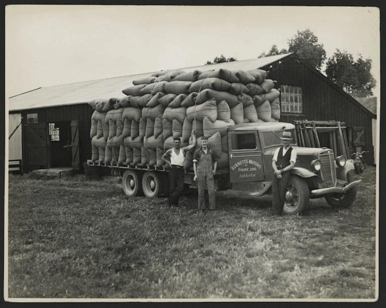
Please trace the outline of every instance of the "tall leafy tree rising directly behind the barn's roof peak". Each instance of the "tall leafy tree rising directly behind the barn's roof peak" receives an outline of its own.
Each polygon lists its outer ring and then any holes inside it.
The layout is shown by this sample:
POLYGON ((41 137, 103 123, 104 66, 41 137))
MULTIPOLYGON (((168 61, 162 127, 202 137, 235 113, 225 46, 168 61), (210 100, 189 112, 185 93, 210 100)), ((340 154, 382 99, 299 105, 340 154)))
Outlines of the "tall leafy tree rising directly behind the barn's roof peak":
POLYGON ((326 52, 323 44, 318 44, 318 38, 309 30, 298 31, 288 40, 288 51, 294 52, 306 64, 320 71, 326 60, 326 52))

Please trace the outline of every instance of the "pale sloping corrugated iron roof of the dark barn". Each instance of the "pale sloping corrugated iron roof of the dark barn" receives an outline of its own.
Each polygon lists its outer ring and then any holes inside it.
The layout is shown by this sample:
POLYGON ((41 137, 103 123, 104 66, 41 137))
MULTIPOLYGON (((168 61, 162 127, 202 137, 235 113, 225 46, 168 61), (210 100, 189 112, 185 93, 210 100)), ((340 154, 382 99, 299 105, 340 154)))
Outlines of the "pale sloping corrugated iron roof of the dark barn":
MULTIPOLYGON (((185 72, 191 72, 195 70, 207 71, 211 69, 216 70, 226 68, 231 71, 248 71, 264 67, 292 54, 293 53, 252 60, 233 61, 169 70, 183 70, 185 72)), ((153 73, 155 72, 39 88, 34 91, 11 97, 9 99, 9 110, 16 111, 62 105, 74 105, 88 103, 95 99, 109 99, 113 97, 121 98, 125 96, 122 93, 122 90, 131 86, 133 84, 133 80, 148 77, 153 73)))

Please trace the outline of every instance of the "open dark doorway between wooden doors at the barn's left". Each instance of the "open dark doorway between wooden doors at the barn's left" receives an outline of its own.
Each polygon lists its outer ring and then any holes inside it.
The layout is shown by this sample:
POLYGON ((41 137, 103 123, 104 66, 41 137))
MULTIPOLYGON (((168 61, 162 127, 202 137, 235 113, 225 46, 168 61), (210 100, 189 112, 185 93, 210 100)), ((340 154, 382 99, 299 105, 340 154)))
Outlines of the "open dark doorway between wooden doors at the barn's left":
POLYGON ((49 123, 51 168, 71 167, 71 121, 49 123))

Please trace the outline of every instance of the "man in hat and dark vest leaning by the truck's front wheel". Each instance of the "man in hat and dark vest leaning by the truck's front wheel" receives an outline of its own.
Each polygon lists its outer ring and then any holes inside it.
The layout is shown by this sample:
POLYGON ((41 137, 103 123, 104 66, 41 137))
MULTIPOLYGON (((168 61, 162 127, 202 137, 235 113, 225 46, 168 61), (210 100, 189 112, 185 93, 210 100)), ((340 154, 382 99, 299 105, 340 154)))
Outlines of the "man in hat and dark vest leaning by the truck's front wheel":
POLYGON ((272 180, 272 215, 281 215, 284 208, 290 170, 296 163, 296 150, 290 146, 291 132, 284 131, 280 137, 283 146, 276 149, 272 158, 274 176, 272 180))

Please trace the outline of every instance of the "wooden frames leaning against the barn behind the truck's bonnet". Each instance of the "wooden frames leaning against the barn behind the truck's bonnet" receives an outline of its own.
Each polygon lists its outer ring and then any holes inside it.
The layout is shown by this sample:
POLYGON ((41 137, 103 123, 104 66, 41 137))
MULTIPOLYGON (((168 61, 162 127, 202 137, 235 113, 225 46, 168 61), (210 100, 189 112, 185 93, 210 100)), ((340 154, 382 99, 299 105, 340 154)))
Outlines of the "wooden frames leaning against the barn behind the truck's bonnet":
POLYGON ((327 146, 320 142, 319 133, 328 133, 329 148, 334 153, 343 155, 350 159, 348 149, 346 124, 339 121, 294 121, 298 145, 301 147, 327 146))

